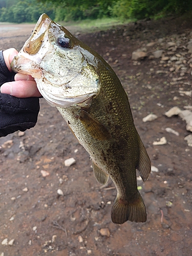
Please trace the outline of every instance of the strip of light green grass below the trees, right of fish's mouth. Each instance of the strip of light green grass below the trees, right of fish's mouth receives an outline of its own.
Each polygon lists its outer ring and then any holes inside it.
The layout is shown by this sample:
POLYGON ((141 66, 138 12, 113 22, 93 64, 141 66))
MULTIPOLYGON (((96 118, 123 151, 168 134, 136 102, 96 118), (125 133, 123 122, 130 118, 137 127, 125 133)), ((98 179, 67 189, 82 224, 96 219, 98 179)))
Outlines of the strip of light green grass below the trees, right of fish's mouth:
MULTIPOLYGON (((126 20, 129 23, 131 20, 126 20)), ((74 27, 75 30, 81 33, 96 32, 108 30, 113 26, 125 24, 118 18, 101 18, 101 19, 84 19, 77 22, 58 22, 63 27, 74 27)))

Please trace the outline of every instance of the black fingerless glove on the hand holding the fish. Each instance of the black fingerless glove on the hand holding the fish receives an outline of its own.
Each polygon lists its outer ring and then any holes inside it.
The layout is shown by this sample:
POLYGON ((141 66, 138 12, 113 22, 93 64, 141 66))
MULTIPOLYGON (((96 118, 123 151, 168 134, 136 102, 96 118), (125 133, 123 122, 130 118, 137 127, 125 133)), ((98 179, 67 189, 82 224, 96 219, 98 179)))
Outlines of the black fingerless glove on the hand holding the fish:
MULTIPOLYGON (((0 87, 3 83, 14 81, 14 72, 6 66, 3 51, 0 51, 0 87)), ((24 132, 35 126, 39 112, 39 98, 16 98, 0 93, 0 137, 18 130, 24 132)))

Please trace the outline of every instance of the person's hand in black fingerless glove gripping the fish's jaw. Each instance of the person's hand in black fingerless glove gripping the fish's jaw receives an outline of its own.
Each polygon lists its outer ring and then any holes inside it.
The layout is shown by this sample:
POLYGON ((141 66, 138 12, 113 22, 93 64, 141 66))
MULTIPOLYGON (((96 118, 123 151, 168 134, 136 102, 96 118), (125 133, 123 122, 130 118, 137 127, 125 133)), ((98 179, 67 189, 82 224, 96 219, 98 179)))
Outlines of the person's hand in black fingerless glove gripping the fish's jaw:
POLYGON ((39 113, 40 93, 34 79, 11 72, 16 54, 13 48, 0 51, 0 137, 35 126, 39 113))

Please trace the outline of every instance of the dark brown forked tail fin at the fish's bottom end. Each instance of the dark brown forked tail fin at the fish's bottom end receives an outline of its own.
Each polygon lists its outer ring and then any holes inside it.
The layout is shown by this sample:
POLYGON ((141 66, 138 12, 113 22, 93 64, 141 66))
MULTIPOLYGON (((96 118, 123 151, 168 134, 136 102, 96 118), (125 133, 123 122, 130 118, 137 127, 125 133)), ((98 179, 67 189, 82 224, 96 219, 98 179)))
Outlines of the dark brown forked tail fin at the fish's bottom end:
POLYGON ((145 222, 146 208, 139 191, 137 198, 131 202, 119 199, 117 195, 111 210, 111 219, 117 224, 123 224, 125 221, 145 222))

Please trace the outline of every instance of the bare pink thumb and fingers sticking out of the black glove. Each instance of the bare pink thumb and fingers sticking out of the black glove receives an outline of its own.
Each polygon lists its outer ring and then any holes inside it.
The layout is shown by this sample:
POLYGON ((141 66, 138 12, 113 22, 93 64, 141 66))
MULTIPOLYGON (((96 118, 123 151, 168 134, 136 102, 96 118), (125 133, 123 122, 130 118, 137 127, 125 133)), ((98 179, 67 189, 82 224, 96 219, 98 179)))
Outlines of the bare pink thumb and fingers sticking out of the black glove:
MULTIPOLYGON (((11 71, 10 63, 17 53, 18 52, 14 48, 3 51, 5 63, 9 71, 11 71)), ((15 81, 8 81, 2 84, 0 89, 1 93, 10 94, 18 98, 41 96, 32 76, 18 73, 15 75, 14 79, 15 81)))

